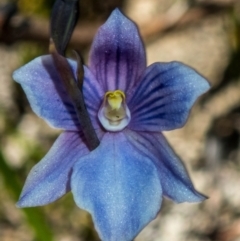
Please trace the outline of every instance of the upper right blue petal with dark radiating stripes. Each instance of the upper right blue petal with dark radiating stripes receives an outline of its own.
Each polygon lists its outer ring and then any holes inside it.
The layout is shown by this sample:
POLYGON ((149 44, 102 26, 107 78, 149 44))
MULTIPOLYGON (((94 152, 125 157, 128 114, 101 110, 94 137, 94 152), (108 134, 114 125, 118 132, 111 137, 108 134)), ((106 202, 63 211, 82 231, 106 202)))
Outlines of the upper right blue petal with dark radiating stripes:
POLYGON ((164 131, 182 127, 196 99, 209 83, 190 67, 179 63, 155 63, 129 99, 132 120, 129 128, 164 131))

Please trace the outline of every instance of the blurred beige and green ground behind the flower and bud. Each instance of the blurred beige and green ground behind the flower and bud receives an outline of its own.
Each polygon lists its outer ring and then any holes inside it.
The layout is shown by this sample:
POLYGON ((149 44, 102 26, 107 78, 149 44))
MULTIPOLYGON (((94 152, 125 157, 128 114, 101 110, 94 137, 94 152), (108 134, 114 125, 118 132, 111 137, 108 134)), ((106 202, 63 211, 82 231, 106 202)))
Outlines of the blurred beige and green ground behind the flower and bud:
MULTIPOLYGON (((48 53, 53 3, 0 0, 1 241, 99 240, 91 217, 71 194, 40 208, 15 207, 29 170, 60 133, 33 114, 11 77, 48 53)), ((212 85, 186 126, 165 133, 196 189, 209 199, 200 204, 165 199, 135 241, 240 241, 240 1, 81 0, 69 49, 80 50, 86 63, 97 28, 115 7, 138 24, 148 65, 182 61, 212 85)))

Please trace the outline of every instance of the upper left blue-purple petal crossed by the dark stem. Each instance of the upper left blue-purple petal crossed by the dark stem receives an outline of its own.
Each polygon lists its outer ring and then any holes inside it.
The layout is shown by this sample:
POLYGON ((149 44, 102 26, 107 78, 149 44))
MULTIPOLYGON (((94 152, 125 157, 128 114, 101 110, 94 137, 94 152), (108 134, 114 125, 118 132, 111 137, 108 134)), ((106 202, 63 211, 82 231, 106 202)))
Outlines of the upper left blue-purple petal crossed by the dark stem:
MULTIPOLYGON (((69 60, 76 73, 77 65, 69 60)), ((80 124, 74 105, 68 96, 50 55, 34 59, 16 70, 15 81, 20 83, 33 111, 51 126, 65 130, 78 130, 80 124)), ((101 104, 102 90, 90 71, 85 68, 83 92, 90 115, 101 104)), ((96 119, 96 114, 95 114, 96 119)))

